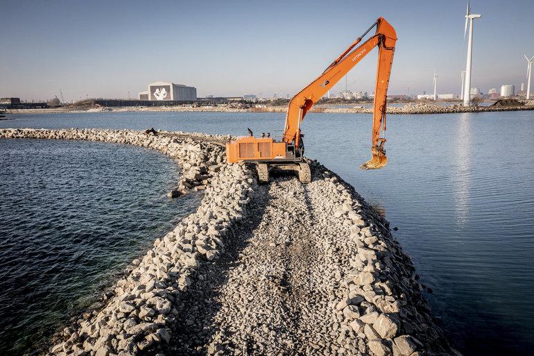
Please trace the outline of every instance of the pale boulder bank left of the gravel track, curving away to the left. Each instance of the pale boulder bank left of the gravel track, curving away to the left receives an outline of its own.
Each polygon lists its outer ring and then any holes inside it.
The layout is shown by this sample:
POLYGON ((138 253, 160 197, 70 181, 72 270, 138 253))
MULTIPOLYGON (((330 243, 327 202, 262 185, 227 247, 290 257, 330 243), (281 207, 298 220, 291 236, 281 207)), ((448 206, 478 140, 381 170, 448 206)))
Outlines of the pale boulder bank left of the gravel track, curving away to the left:
MULTIPOLYGON (((209 172, 205 194, 195 213, 162 239, 130 272, 118 280, 101 302, 64 329, 63 339, 48 355, 137 355, 155 353, 169 342, 170 329, 178 315, 180 295, 196 279, 196 270, 213 263, 223 253, 223 239, 236 221, 246 216, 256 180, 243 164, 226 164, 223 149, 200 142, 221 139, 212 135, 180 137, 130 130, 0 130, 0 138, 87 139, 136 144, 179 159, 185 174, 209 172), (216 166, 216 167, 215 167, 216 166)), ((184 183, 187 185, 187 183, 184 183)))

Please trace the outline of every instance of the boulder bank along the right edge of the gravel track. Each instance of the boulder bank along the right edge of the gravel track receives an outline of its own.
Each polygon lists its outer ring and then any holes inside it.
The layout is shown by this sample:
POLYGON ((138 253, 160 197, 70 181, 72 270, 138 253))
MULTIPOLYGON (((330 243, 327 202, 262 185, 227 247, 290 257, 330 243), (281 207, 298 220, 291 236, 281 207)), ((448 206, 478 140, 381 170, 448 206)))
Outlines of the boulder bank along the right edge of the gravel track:
POLYGON ((411 259, 393 238, 388 221, 352 186, 324 167, 319 169, 329 182, 323 189, 330 194, 335 189, 337 226, 349 234, 341 250, 346 272, 341 271, 343 278, 330 304, 341 336, 356 335, 365 340, 366 348, 360 342, 360 351, 378 356, 459 355, 433 323, 421 293, 424 287, 417 282, 411 259))

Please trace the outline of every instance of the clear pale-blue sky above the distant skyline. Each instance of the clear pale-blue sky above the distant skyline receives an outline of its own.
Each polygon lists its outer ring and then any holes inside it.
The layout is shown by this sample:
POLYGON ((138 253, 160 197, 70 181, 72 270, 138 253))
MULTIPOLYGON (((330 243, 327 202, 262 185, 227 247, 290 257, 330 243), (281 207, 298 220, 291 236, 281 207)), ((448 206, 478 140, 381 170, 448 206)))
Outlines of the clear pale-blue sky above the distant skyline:
MULTIPOLYGON (((533 0, 473 0, 472 86, 526 82, 533 0)), ((147 83, 199 96, 295 94, 374 20, 397 30, 390 94, 459 93, 466 1, 0 1, 0 96, 132 97, 147 83)), ((372 92, 376 52, 348 76, 372 92)), ((343 90, 339 83, 336 91, 343 90)))

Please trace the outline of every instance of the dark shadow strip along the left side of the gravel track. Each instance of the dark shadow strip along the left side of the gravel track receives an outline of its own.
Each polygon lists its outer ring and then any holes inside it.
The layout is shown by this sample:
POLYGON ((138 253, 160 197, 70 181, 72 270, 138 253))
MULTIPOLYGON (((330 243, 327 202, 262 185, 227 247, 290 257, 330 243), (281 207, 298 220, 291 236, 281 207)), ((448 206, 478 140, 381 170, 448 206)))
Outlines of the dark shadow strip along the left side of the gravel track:
POLYGON ((165 355, 215 353, 216 350, 206 350, 204 347, 220 331, 214 325, 214 316, 221 310, 221 303, 214 300, 221 295, 221 287, 227 283, 229 272, 239 266, 239 255, 248 246, 252 231, 261 222, 269 203, 268 185, 260 186, 248 207, 246 218, 227 233, 224 239, 225 253, 214 262, 205 261, 196 276, 191 278, 195 282, 180 297, 182 307, 173 325, 171 341, 164 349, 165 355))

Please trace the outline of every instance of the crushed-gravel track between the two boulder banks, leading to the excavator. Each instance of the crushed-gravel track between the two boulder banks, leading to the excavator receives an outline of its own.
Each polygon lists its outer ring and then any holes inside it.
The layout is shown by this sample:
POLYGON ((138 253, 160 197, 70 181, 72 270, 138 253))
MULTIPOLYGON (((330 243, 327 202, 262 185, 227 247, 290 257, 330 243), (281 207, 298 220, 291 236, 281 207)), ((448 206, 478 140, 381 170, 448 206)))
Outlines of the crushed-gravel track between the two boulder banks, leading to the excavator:
POLYGON ((295 355, 334 342, 334 270, 307 190, 284 176, 259 188, 227 253, 184 296, 171 351, 295 355))

